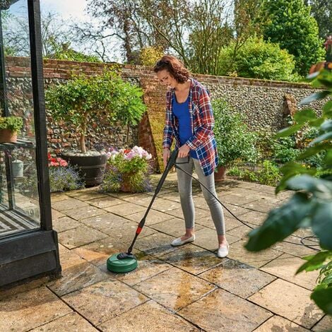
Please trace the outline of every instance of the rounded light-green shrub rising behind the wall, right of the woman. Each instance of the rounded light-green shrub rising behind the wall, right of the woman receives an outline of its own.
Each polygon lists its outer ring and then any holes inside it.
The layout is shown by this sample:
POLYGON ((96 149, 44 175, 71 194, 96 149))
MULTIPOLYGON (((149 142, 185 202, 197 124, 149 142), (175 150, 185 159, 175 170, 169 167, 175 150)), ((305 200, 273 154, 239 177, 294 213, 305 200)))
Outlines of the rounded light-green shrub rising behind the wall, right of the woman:
POLYGON ((298 81, 295 75, 294 57, 278 44, 265 42, 260 37, 251 37, 237 52, 235 42, 225 47, 220 54, 220 75, 261 78, 279 81, 298 81), (235 58, 234 58, 234 54, 235 58), (231 66, 230 66, 231 64, 231 66))

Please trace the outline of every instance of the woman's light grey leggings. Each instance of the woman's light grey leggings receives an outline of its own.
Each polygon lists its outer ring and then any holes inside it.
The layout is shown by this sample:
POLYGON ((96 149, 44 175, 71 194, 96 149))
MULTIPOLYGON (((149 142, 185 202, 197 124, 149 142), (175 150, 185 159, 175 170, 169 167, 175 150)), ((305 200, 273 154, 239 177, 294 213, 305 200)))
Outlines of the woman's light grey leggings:
MULTIPOLYGON (((215 193, 215 179, 213 174, 208 176, 204 175, 201 165, 197 159, 189 157, 189 163, 181 164, 181 162, 186 161, 188 161, 188 158, 177 158, 177 162, 180 162, 179 167, 181 167, 189 174, 192 174, 193 169, 195 168, 199 182, 204 184, 206 188, 208 188, 215 196, 217 196, 215 193)), ((186 228, 194 228, 195 208, 191 194, 192 178, 189 177, 188 174, 182 172, 182 170, 177 169, 177 182, 179 186, 179 196, 186 228)), ((208 207, 210 208, 212 220, 215 224, 217 234, 225 235, 225 219, 222 206, 203 186, 201 186, 201 189, 203 191, 203 196, 206 199, 206 203, 208 203, 208 207)))

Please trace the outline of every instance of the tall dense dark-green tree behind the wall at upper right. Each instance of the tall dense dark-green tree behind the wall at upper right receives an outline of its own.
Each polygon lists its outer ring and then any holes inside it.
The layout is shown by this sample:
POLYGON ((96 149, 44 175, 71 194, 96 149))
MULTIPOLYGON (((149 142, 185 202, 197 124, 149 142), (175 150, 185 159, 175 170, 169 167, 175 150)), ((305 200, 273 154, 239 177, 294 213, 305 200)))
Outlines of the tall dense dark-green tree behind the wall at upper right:
POLYGON ((264 39, 293 54, 300 75, 305 76, 312 64, 324 58, 318 25, 303 0, 263 0, 257 20, 261 17, 267 18, 261 28, 264 39))

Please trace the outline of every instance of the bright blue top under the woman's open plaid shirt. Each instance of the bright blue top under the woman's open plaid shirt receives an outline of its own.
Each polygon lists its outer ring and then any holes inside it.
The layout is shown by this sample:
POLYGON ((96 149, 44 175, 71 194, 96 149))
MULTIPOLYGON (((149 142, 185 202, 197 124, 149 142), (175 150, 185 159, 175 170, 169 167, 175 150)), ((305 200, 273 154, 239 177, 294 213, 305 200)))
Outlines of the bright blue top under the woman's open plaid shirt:
MULTIPOLYGON (((190 114, 189 114, 189 96, 186 98, 185 102, 177 102, 175 93, 173 95, 173 113, 179 121, 179 138, 180 143, 183 146, 186 141, 188 141, 191 136, 191 123, 190 123, 190 114)), ((190 150, 189 155, 191 158, 198 159, 197 153, 195 150, 190 150)))

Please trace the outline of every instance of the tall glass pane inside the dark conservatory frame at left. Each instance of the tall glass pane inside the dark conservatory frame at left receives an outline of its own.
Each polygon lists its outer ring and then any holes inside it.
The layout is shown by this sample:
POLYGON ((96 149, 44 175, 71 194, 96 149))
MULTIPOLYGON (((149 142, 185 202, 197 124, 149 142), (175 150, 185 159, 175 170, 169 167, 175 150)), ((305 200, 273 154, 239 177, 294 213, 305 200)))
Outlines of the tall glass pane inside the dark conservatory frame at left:
POLYGON ((0 239, 40 228, 28 1, 0 1, 2 117, 19 117, 15 143, 0 140, 0 239))

